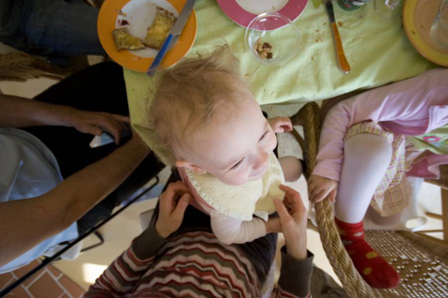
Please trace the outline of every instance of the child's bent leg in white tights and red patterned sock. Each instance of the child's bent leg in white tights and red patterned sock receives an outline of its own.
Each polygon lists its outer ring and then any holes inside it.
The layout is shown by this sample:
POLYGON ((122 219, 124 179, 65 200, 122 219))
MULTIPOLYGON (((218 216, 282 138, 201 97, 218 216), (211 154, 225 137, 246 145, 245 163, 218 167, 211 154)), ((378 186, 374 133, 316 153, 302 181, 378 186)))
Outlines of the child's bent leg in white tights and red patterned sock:
POLYGON ((344 161, 336 196, 336 224, 354 266, 375 288, 392 288, 400 276, 364 240, 362 219, 389 166, 392 146, 373 134, 355 135, 344 143, 344 161))

